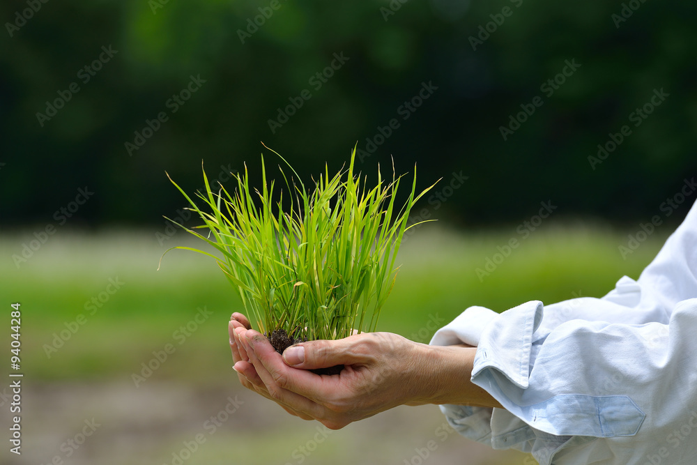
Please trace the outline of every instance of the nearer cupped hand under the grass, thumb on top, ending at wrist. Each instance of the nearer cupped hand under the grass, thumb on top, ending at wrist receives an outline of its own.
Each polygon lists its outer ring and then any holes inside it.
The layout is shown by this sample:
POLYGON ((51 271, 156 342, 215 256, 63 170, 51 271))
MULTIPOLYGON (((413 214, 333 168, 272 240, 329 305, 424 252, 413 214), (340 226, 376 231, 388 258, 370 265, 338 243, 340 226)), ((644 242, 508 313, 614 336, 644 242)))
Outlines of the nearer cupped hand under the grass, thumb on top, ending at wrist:
POLYGON ((243 344, 270 398, 331 429, 418 402, 428 385, 416 347, 423 344, 392 333, 303 342, 283 357, 254 330, 247 330, 243 344), (337 375, 308 371, 334 365, 344 369, 337 375))

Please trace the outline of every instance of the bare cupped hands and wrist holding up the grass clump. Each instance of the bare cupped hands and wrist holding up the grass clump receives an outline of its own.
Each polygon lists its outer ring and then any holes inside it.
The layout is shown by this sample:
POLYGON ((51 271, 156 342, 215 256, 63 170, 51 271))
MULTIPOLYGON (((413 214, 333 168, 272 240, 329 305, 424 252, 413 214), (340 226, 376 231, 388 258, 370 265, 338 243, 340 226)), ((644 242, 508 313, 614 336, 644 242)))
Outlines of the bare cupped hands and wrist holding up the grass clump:
POLYGON ((296 344, 281 357, 256 331, 241 328, 235 333, 254 376, 247 366, 235 368, 245 369, 247 379, 254 379, 256 392, 332 429, 400 404, 500 407, 470 383, 475 348, 427 346, 392 333, 362 333, 296 344), (345 367, 332 376, 307 371, 334 365, 345 367), (259 380, 263 386, 256 384, 259 380))

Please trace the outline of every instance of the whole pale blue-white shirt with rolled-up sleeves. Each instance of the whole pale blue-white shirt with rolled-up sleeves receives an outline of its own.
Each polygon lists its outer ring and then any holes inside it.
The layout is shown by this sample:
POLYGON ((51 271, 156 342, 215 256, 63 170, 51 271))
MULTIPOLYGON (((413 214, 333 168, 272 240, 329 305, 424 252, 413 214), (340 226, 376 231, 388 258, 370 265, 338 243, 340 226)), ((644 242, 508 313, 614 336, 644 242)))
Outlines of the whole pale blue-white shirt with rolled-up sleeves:
POLYGON ((697 464, 697 204, 637 281, 603 298, 470 307, 431 340, 477 346, 472 381, 505 409, 450 425, 541 465, 697 464))

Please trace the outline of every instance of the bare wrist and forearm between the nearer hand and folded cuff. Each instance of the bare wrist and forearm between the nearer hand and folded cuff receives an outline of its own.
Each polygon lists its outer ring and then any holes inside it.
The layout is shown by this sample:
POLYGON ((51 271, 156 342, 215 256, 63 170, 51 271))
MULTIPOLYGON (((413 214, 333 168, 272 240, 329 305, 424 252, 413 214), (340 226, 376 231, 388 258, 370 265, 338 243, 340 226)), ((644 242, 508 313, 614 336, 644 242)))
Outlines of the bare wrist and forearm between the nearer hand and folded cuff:
POLYGON ((418 344, 417 383, 423 388, 408 405, 457 404, 503 408, 470 381, 476 347, 418 344))

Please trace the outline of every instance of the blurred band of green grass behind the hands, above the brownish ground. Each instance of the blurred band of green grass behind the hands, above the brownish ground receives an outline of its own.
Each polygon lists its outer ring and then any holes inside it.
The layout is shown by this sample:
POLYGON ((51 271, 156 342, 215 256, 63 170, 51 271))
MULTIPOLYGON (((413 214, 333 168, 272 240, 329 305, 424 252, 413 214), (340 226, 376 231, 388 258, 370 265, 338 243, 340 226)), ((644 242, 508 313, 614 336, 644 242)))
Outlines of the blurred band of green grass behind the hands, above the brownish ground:
MULTIPOLYGON (((581 224, 552 226, 521 241, 480 279, 475 270, 486 271, 487 258, 498 261, 497 247, 515 236, 515 231, 465 236, 430 225, 416 231, 404 243, 397 284, 378 328, 427 342, 429 315, 450 321, 470 305, 500 312, 526 300, 553 303, 602 296, 622 275, 638 277, 665 239, 652 237, 624 260, 618 252, 623 234, 581 224)), ((202 379, 210 367, 228 365, 227 320, 231 312, 243 310, 236 291, 212 260, 190 252, 170 252, 157 270, 167 245, 191 239, 179 233, 161 246, 153 234, 132 231, 56 234, 17 270, 10 257, 31 236, 1 238, 0 254, 6 257, 0 265, 3 302, 22 303, 24 357, 32 376, 113 376, 132 369, 134 358, 168 342, 181 346, 182 357, 206 353, 202 360, 191 356, 191 368, 202 379), (189 329, 197 326, 194 333, 176 333, 199 309, 211 312, 206 321, 190 324, 189 329), (54 333, 67 335, 76 324, 77 331, 71 331, 63 346, 47 349, 59 345, 53 344, 54 333), (186 344, 179 344, 183 340, 186 344)))

